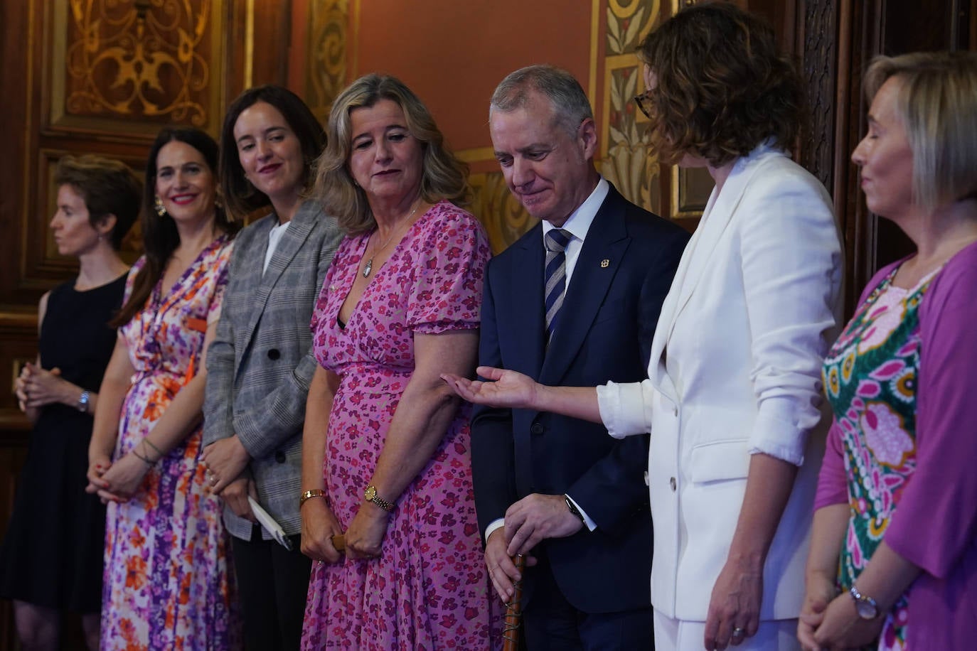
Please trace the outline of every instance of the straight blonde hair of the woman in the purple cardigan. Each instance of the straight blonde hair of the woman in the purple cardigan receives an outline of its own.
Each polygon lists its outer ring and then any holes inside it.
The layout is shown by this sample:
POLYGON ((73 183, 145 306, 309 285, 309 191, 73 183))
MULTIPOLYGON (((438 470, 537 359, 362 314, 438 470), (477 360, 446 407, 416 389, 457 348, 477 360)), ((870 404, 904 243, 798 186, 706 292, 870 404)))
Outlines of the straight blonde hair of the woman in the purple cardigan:
POLYGON ((891 77, 902 82, 896 113, 913 150, 913 200, 925 210, 977 197, 977 53, 876 57, 869 102, 891 77))

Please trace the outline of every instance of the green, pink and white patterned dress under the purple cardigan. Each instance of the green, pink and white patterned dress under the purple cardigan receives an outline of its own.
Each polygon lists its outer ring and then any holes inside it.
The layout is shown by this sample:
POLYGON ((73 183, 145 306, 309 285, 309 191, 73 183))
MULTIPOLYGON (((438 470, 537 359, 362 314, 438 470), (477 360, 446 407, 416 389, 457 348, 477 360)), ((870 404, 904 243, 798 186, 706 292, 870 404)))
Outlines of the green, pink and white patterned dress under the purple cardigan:
MULTIPOLYGON (((882 542, 916 467, 919 305, 936 272, 906 290, 882 279, 825 358, 824 380, 844 450, 851 516, 838 563, 848 590, 882 542)), ((834 433, 834 432, 832 432, 834 433)), ((909 592, 886 614, 878 648, 906 648, 909 592)))

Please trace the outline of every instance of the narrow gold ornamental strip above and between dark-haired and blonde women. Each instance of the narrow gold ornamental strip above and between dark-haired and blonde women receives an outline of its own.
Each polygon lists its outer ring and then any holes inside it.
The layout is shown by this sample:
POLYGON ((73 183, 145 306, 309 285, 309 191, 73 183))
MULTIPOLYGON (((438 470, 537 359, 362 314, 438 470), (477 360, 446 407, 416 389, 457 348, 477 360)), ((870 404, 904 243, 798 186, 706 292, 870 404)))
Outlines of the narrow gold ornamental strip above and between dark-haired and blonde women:
POLYGON ((324 122, 333 100, 346 84, 349 0, 326 0, 309 5, 309 65, 306 102, 324 122))

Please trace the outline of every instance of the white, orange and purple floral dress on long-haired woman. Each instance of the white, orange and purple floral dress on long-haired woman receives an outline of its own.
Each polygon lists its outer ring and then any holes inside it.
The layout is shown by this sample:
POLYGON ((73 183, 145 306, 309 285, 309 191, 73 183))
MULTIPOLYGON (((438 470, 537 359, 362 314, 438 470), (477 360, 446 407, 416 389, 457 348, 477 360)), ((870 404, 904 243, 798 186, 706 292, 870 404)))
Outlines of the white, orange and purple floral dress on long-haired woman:
MULTIPOLYGON (((169 293, 159 284, 121 328, 136 373, 126 393, 114 458, 135 447, 199 369, 207 324, 220 314, 231 260, 222 236, 169 293)), ((125 296, 132 293, 133 265, 125 296)), ((123 504, 109 503, 102 592, 102 648, 236 649, 234 572, 220 500, 204 490, 201 433, 149 469, 123 504)))

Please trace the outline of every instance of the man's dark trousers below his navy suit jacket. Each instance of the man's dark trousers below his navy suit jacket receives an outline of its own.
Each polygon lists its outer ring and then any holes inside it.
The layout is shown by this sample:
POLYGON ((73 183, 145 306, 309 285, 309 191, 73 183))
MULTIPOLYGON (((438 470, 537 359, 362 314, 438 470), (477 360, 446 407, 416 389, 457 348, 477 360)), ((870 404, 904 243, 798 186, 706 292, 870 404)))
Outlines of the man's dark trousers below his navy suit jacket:
MULTIPOLYGON (((618 651, 655 648, 652 606, 617 613, 585 613, 573 607, 553 577, 545 554, 528 568, 535 585, 523 609, 529 651, 618 651)), ((614 590, 613 586, 605 587, 614 590)))

